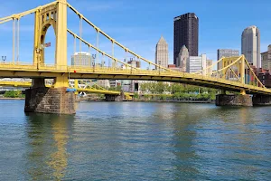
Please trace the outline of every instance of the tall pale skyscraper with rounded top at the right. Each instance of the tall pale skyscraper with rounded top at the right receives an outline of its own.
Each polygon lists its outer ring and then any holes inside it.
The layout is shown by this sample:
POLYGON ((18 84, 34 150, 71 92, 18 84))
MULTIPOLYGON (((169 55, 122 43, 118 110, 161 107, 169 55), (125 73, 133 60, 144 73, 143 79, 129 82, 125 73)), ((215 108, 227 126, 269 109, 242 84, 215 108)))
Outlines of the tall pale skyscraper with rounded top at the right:
POLYGON ((255 25, 249 26, 242 33, 242 54, 249 63, 253 63, 257 68, 261 67, 260 33, 255 25))

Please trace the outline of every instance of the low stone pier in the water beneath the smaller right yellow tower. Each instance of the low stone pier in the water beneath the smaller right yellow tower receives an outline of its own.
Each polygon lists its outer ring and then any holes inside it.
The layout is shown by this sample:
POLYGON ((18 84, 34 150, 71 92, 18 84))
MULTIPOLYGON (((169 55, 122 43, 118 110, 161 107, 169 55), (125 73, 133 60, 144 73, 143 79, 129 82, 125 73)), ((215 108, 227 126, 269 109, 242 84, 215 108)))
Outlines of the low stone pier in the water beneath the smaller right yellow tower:
POLYGON ((217 106, 253 106, 252 98, 249 95, 226 95, 216 96, 217 106))

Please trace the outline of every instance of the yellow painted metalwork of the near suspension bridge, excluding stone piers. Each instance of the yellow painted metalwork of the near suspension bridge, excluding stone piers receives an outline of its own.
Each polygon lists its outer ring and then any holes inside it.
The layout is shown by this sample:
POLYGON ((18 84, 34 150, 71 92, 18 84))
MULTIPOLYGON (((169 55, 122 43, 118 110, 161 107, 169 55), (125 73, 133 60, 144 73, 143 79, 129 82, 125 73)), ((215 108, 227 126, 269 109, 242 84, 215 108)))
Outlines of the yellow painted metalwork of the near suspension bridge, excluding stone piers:
MULTIPOLYGON (((112 37, 101 31, 96 25, 92 24, 87 18, 67 3, 66 0, 57 0, 51 4, 39 6, 32 10, 23 12, 21 14, 13 14, 5 18, 0 18, 0 24, 4 24, 7 21, 18 20, 26 14, 35 13, 34 22, 34 50, 33 50, 33 63, 23 63, 23 62, 0 62, 0 76, 1 77, 29 77, 29 78, 54 78, 54 87, 68 87, 68 75, 71 79, 126 79, 126 80, 154 80, 154 81, 180 81, 188 84, 196 84, 207 87, 218 87, 223 90, 239 90, 241 93, 249 90, 253 93, 265 93, 271 94, 271 90, 266 89, 266 87, 257 79, 254 71, 248 64, 244 55, 240 57, 222 58, 219 62, 223 63, 223 68, 218 71, 212 72, 212 75, 202 75, 197 73, 186 73, 179 71, 172 71, 161 65, 155 64, 130 51, 121 43, 118 43, 112 37), (80 36, 76 33, 72 33, 67 29, 67 5, 72 11, 79 15, 80 20, 84 20, 90 24, 97 33, 101 33, 108 40, 112 42, 112 55, 101 51, 98 47, 93 46, 82 39, 81 31, 80 36), (44 52, 41 48, 41 44, 44 43, 46 31, 49 26, 53 26, 56 34, 56 57, 54 64, 46 64, 44 62, 44 52), (84 66, 67 66, 67 31, 72 34, 74 38, 79 39, 80 42, 86 43, 90 48, 93 48, 103 57, 107 56, 114 62, 120 62, 126 65, 126 67, 131 67, 131 69, 120 69, 115 66, 113 67, 84 67, 84 66), (137 69, 126 62, 121 62, 114 57, 114 44, 117 44, 125 52, 133 54, 137 60, 142 60, 147 62, 149 65, 154 65, 159 68, 159 71, 150 70, 140 70, 137 69), (232 66, 238 67, 238 73, 236 74, 232 70, 232 66), (257 80, 257 84, 261 87, 245 84, 245 69, 246 66, 250 69, 253 76, 257 80), (220 78, 220 73, 224 78, 226 78, 227 70, 233 71, 235 76, 241 82, 231 81, 220 78), (164 70, 164 71, 160 71, 164 70), (213 76, 213 75, 218 76, 213 76)), ((80 22, 80 26, 81 26, 80 22)), ((80 27, 81 28, 81 27, 80 27)), ((98 45, 98 43, 97 43, 98 45)), ((14 58, 13 58, 14 61, 14 58)), ((115 63, 114 63, 115 64, 115 63)), ((214 66, 214 65, 212 65, 214 66)), ((204 71, 202 71, 204 72, 204 71)), ((105 90, 106 91, 106 90, 105 90)))

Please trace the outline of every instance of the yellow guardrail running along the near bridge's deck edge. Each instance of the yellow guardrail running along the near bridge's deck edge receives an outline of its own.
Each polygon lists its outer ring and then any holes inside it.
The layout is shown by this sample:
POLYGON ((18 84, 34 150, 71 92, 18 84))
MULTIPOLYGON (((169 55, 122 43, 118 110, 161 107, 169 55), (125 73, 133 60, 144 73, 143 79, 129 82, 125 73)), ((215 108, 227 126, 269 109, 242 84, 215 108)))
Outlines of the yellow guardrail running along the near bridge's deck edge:
POLYGON ((231 85, 240 89, 258 90, 271 93, 271 90, 266 88, 257 87, 254 85, 243 84, 238 81, 230 81, 221 79, 220 77, 206 76, 202 74, 192 74, 180 71, 163 71, 163 70, 135 70, 135 69, 122 69, 115 67, 85 67, 85 66, 67 66, 55 64, 34 64, 30 62, 0 62, 0 70, 5 71, 52 71, 64 73, 84 73, 84 74, 111 74, 111 75, 135 75, 135 76, 155 76, 155 77, 171 77, 171 78, 184 78, 191 79, 192 81, 202 81, 202 83, 217 82, 221 84, 231 85))

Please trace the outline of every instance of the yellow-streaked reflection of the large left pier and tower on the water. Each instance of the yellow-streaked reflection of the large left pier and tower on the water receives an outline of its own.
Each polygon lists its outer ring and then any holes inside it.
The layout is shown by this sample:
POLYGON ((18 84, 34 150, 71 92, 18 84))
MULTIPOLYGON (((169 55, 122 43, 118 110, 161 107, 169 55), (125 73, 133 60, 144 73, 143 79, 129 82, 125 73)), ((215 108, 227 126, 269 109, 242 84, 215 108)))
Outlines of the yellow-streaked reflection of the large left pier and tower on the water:
POLYGON ((28 155, 31 160, 29 165, 32 165, 28 173, 33 180, 61 180, 68 166, 66 145, 73 116, 27 113, 26 118, 32 150, 28 155))

